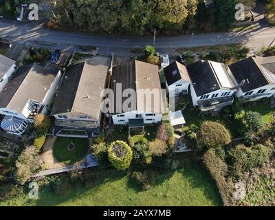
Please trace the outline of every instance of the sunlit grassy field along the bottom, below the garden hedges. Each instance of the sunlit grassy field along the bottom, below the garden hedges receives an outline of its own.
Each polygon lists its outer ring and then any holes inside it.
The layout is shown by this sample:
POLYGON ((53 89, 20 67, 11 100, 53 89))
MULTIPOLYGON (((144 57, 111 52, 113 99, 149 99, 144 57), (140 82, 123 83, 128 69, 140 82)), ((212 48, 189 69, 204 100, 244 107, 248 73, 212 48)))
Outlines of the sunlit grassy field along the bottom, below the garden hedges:
POLYGON ((38 200, 24 195, 0 202, 0 206, 221 206, 216 186, 197 164, 158 175, 156 185, 146 191, 139 190, 123 172, 102 172, 89 188, 73 187, 64 197, 44 188, 38 200))

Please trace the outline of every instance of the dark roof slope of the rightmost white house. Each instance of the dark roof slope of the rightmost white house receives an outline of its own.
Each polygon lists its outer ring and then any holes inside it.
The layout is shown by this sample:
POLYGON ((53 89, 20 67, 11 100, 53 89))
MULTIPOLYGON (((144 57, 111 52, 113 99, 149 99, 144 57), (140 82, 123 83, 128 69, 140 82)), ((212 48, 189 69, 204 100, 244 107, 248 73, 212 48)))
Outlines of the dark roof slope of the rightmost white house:
POLYGON ((260 69, 261 63, 259 63, 255 57, 233 63, 229 68, 238 84, 240 84, 242 80, 246 80, 245 84, 241 87, 243 92, 269 84, 260 69))

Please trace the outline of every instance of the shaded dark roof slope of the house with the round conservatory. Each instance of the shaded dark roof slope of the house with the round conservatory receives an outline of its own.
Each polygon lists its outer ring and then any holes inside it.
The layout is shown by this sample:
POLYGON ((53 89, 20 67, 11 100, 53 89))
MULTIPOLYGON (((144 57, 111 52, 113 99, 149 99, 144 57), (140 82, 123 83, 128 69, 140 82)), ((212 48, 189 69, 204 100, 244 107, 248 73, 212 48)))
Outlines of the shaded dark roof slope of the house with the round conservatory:
POLYGON ((5 108, 8 106, 17 89, 20 87, 21 83, 28 75, 28 72, 30 72, 30 69, 32 69, 32 66, 32 64, 25 65, 19 67, 17 71, 14 72, 12 79, 8 82, 7 85, 5 85, 3 91, 0 92, 0 108, 5 108))

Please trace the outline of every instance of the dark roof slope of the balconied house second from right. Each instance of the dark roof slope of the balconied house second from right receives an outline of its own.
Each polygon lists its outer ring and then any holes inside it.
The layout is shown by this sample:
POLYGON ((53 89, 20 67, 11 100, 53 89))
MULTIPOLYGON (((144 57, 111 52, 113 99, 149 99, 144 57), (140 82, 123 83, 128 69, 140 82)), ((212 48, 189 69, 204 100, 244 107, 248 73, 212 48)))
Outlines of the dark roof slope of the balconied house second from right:
POLYGON ((208 61, 197 61, 186 66, 197 96, 220 89, 219 82, 208 61))

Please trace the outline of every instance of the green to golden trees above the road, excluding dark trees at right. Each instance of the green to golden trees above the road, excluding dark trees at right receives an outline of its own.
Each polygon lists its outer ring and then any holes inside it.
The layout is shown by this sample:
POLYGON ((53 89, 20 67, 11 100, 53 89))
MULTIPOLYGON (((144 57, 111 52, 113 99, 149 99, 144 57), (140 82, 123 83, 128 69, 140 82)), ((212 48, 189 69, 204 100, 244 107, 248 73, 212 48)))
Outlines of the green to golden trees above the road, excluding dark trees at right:
POLYGON ((181 30, 198 0, 61 0, 52 28, 108 34, 151 34, 181 30))

